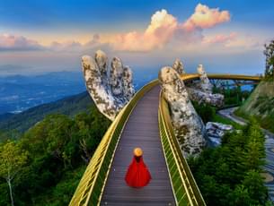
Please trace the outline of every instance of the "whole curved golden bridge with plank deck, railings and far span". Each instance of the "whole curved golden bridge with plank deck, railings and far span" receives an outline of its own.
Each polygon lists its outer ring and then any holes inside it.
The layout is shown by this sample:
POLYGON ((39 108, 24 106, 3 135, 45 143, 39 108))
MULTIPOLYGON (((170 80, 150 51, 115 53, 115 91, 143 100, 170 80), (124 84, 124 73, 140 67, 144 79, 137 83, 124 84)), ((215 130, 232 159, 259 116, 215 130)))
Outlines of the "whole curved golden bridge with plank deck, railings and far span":
MULTIPOLYGON (((181 79, 199 80, 199 74, 183 74, 181 79)), ((259 76, 233 74, 208 74, 208 79, 261 81, 259 76)), ((182 156, 158 80, 138 90, 110 124, 70 205, 206 205, 182 156), (124 181, 137 146, 144 150, 152 176, 142 189, 124 181)))

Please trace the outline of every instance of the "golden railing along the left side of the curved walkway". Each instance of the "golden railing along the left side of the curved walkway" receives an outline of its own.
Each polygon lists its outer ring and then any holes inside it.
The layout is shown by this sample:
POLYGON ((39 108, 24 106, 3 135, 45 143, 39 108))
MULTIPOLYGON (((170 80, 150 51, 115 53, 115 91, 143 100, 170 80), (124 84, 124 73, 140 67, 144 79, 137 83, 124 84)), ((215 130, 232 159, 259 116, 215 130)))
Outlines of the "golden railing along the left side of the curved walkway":
POLYGON ((98 205, 102 198, 104 185, 110 172, 111 162, 113 160, 116 147, 119 142, 120 134, 124 125, 127 123, 128 116, 148 90, 151 90, 158 84, 158 80, 149 82, 142 87, 128 102, 128 104, 116 116, 108 131, 102 137, 98 148, 93 154, 89 165, 86 167, 84 176, 76 188, 75 194, 69 203, 76 205, 98 205))

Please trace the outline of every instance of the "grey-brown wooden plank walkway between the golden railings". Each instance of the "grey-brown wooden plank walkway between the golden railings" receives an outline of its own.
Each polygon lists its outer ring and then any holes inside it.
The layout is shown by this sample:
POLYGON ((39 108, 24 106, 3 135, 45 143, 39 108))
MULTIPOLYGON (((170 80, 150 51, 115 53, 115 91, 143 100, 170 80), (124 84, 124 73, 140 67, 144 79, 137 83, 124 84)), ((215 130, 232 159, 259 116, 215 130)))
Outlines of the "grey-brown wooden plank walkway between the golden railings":
POLYGON ((148 91, 137 102, 120 137, 101 205, 175 205, 158 128, 160 87, 148 91), (124 177, 135 147, 144 151, 152 180, 141 189, 129 187, 124 177))

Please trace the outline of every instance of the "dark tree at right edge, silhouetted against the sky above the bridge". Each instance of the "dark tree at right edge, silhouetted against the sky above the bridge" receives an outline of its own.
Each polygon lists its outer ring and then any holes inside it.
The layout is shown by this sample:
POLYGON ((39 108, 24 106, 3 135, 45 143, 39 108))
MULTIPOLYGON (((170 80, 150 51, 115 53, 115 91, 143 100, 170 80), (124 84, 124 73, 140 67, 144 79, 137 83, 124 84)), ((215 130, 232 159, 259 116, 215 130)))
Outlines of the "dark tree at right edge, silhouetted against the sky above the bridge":
POLYGON ((265 55, 265 76, 267 78, 274 78, 274 39, 270 41, 270 44, 264 45, 265 50, 263 54, 265 55))

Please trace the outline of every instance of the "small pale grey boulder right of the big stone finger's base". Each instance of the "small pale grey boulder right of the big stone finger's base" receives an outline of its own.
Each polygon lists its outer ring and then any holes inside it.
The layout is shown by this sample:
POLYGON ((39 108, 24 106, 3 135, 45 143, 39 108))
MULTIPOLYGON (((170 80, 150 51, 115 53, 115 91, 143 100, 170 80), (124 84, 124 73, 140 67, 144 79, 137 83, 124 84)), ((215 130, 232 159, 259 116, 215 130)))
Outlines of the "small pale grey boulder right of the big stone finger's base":
POLYGON ((208 122, 206 124, 206 130, 210 144, 212 146, 218 146, 221 144, 222 137, 225 133, 231 133, 234 131, 234 128, 230 124, 208 122))

